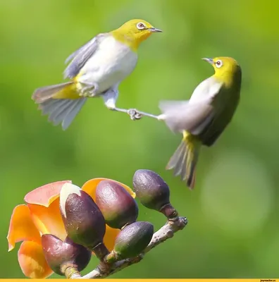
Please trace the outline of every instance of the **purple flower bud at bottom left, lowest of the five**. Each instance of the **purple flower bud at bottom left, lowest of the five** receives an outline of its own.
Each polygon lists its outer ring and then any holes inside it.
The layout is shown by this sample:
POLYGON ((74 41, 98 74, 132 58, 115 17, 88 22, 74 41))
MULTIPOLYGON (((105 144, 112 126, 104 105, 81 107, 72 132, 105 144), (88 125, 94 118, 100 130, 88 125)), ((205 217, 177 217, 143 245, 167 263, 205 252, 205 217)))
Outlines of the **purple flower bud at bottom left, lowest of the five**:
POLYGON ((64 276, 69 268, 75 271, 85 269, 92 254, 86 247, 73 243, 70 238, 62 241, 51 234, 42 235, 42 247, 47 264, 61 276, 64 276))

